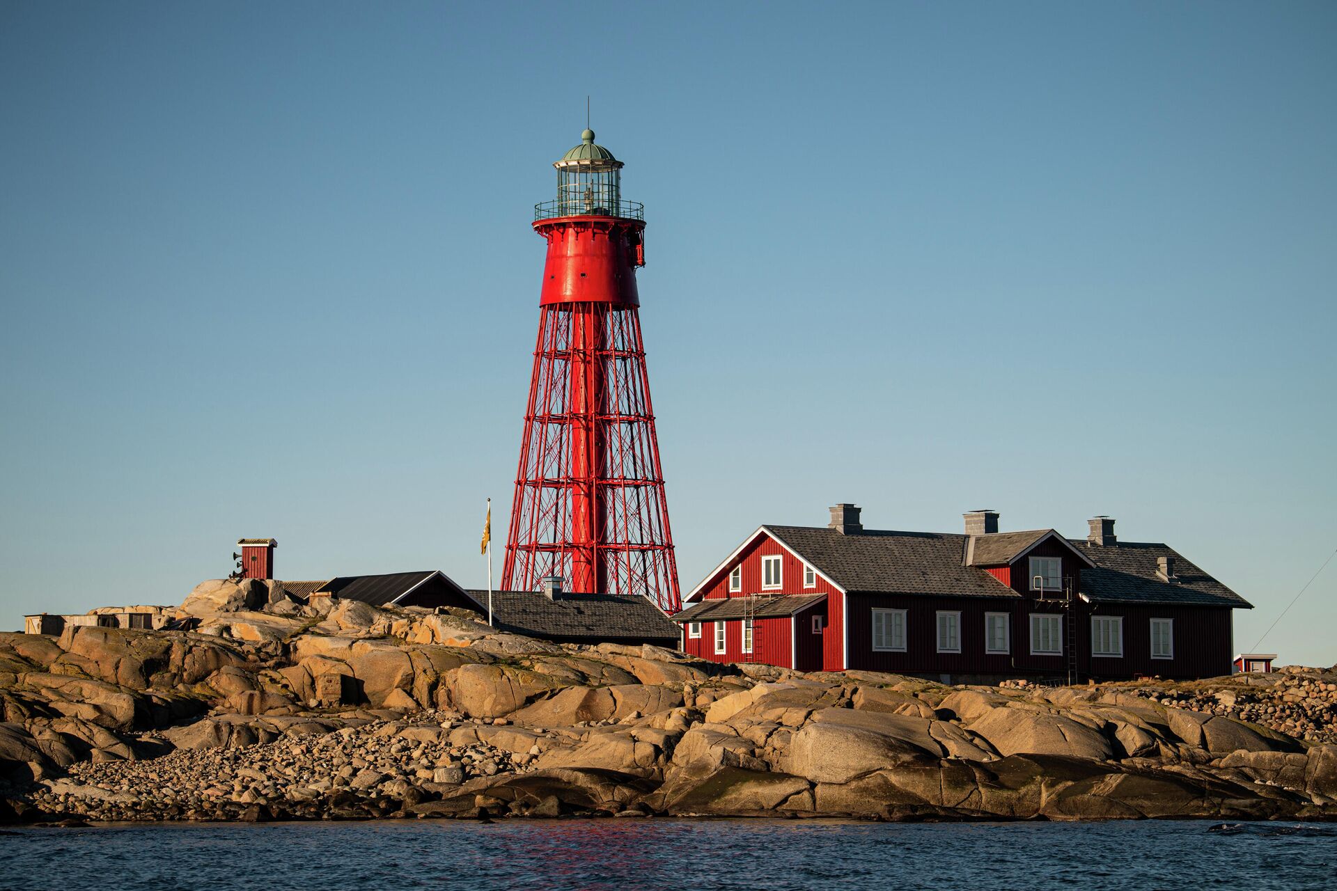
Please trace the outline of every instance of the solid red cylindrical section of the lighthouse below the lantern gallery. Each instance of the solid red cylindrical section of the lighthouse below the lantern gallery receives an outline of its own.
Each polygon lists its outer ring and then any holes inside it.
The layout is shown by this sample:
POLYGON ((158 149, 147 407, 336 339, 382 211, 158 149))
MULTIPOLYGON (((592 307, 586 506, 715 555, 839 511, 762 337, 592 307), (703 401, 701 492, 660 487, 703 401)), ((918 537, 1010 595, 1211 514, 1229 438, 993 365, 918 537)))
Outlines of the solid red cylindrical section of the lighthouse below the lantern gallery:
POLYGON ((640 306, 636 267, 644 266, 646 223, 615 216, 559 216, 535 222, 548 242, 539 303, 640 306))

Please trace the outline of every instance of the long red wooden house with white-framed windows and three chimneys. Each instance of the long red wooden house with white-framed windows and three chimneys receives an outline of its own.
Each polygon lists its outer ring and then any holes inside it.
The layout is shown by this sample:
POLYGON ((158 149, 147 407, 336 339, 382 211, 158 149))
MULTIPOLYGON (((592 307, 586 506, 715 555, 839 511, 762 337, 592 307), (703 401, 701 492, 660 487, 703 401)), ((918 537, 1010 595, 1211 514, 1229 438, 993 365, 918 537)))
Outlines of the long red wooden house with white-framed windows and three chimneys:
POLYGON ((869 669, 947 683, 1207 677, 1231 669, 1237 593, 1162 544, 1054 529, 864 529, 836 505, 826 528, 765 525, 674 616, 685 652, 798 671, 869 669))

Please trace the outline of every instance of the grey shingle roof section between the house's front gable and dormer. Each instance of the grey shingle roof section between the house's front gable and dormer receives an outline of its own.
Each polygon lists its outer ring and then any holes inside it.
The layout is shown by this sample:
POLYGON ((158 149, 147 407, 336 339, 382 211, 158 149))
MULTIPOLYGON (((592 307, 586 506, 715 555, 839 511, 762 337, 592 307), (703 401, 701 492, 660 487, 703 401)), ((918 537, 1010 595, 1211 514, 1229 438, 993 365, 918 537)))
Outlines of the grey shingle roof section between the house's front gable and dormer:
POLYGON ((814 526, 766 529, 845 590, 1020 597, 983 569, 965 565, 967 536, 878 529, 846 536, 814 526))

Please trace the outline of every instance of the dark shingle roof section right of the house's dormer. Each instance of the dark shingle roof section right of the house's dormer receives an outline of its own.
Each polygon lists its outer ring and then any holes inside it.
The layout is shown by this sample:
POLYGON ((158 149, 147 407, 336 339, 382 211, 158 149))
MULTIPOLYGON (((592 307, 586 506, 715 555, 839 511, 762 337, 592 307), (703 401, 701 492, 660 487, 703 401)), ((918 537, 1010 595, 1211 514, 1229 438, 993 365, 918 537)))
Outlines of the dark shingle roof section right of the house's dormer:
POLYGON ((1119 541, 1095 545, 1071 540, 1095 569, 1082 569, 1082 593, 1091 600, 1126 604, 1186 604, 1253 609, 1253 604, 1179 556, 1169 545, 1119 541), (1174 558, 1174 581, 1157 574, 1157 558, 1174 558))

